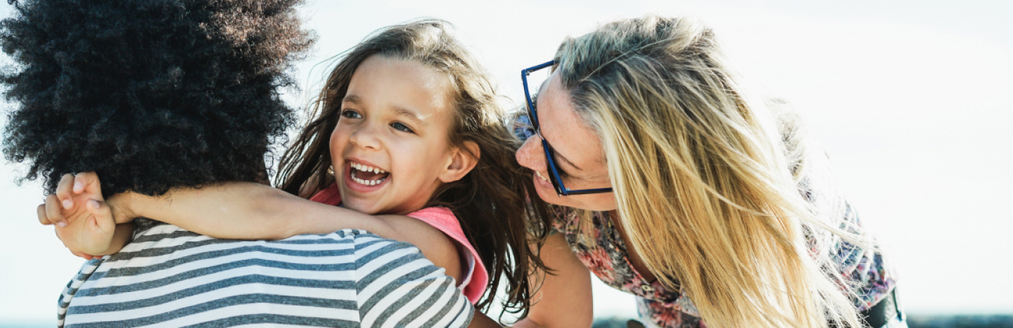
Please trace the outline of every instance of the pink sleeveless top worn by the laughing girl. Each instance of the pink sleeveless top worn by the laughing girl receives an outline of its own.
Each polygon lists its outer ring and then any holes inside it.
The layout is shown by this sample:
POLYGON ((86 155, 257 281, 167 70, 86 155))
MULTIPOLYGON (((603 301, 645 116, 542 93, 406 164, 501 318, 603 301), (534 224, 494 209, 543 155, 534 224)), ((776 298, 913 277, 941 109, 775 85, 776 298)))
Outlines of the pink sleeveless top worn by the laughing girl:
MULTIPOLYGON (((340 204, 341 194, 337 191, 337 183, 320 190, 320 192, 310 197, 310 200, 335 207, 340 204)), ((458 286, 464 291, 464 296, 468 298, 468 301, 471 301, 471 304, 478 303, 478 299, 485 293, 485 286, 489 283, 489 273, 485 270, 485 265, 482 264, 481 257, 478 256, 475 247, 472 247, 471 243, 468 242, 468 238, 464 236, 461 223, 457 222, 457 217, 454 216, 454 213, 447 208, 425 208, 409 213, 407 217, 415 218, 430 224, 433 228, 440 230, 451 239, 454 239, 457 242, 458 249, 464 248, 468 250, 467 252, 460 252, 461 259, 463 260, 462 263, 467 263, 468 268, 465 271, 464 279, 458 283, 458 286)))

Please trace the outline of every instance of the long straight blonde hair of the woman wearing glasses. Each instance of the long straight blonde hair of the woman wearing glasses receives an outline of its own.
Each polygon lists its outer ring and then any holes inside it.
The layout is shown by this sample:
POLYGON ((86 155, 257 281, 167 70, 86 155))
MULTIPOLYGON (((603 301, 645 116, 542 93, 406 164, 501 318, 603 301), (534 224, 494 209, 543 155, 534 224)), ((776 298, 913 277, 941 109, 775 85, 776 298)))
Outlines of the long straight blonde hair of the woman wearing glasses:
POLYGON ((556 63, 605 146, 617 224, 708 326, 860 327, 832 253, 861 234, 816 192, 820 156, 797 126, 744 95, 710 29, 616 21, 564 40, 556 63))

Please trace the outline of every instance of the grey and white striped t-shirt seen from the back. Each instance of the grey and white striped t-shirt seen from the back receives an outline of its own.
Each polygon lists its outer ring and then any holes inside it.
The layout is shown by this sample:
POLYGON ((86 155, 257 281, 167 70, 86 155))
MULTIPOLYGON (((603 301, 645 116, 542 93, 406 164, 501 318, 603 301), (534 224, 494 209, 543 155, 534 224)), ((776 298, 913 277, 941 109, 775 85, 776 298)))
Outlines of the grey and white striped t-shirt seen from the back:
POLYGON ((361 230, 278 241, 161 225, 84 264, 61 327, 465 327, 474 310, 411 244, 361 230))

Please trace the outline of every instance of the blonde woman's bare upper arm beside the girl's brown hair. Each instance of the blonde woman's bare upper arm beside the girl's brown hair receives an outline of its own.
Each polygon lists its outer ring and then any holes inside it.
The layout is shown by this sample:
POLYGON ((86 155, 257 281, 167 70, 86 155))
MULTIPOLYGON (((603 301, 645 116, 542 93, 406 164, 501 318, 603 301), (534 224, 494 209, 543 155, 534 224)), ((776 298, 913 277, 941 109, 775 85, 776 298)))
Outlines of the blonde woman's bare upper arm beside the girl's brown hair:
POLYGON ((573 254, 561 234, 549 236, 540 253, 554 274, 545 274, 528 317, 518 328, 591 327, 594 320, 591 271, 573 254))

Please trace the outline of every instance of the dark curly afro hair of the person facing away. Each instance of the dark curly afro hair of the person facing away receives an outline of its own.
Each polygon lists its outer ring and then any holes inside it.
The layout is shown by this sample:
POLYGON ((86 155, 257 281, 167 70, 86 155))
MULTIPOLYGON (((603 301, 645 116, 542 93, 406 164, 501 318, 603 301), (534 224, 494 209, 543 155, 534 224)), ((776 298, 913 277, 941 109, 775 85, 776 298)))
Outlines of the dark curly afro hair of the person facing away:
POLYGON ((12 2, 3 151, 50 192, 81 171, 106 196, 255 181, 294 121, 279 89, 313 43, 301 0, 12 2))

